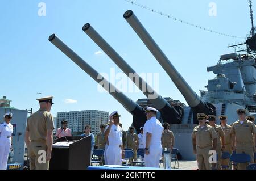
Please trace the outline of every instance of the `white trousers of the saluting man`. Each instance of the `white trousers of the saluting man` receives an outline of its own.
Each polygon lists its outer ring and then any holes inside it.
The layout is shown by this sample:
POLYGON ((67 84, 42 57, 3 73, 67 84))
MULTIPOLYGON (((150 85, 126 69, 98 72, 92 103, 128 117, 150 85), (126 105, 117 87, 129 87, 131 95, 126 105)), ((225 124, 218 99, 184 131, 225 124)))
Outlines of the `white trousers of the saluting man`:
POLYGON ((108 145, 106 150, 108 165, 122 165, 122 149, 119 145, 108 145))

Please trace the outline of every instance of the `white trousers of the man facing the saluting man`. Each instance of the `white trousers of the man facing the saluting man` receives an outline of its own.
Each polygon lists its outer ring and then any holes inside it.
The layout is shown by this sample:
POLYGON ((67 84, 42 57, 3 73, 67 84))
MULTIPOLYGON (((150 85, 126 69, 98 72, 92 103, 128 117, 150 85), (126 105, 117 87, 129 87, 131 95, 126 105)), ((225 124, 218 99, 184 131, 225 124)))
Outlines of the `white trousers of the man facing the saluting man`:
POLYGON ((144 157, 145 167, 159 167, 159 160, 162 157, 162 146, 151 145, 149 148, 149 154, 144 157))

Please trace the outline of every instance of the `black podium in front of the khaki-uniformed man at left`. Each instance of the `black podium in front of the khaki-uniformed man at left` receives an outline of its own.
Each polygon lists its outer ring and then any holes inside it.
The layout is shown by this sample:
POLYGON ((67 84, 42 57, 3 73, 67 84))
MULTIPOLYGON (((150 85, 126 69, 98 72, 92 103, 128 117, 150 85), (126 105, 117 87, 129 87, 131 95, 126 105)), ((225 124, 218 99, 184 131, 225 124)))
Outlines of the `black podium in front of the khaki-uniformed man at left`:
POLYGON ((86 170, 90 166, 91 139, 66 136, 54 140, 49 170, 86 170))

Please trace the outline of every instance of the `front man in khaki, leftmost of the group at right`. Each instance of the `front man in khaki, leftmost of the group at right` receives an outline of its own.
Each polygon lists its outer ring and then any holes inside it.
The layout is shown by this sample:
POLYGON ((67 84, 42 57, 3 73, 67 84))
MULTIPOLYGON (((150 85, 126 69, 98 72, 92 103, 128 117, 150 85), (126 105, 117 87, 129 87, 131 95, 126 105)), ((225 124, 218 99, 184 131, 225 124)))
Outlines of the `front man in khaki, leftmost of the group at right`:
POLYGON ((205 123, 207 115, 197 113, 196 116, 199 125, 192 132, 193 151, 199 170, 210 170, 209 151, 216 150, 218 135, 213 127, 205 123))

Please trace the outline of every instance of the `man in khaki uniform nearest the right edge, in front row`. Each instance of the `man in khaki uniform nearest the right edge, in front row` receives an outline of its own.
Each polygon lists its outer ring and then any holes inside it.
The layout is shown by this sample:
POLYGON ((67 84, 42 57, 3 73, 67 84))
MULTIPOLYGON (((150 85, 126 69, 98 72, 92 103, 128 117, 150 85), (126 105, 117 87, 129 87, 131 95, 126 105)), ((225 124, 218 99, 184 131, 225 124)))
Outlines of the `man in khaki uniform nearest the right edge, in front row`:
MULTIPOLYGON (((251 121, 245 119, 245 109, 238 109, 237 114, 239 120, 236 121, 231 129, 232 133, 232 145, 236 153, 249 154, 251 157, 251 163, 254 162, 254 145, 256 140, 255 136, 256 129, 251 121), (236 146, 235 146, 236 145, 236 146)), ((238 163, 238 170, 245 170, 247 163, 238 163)))

